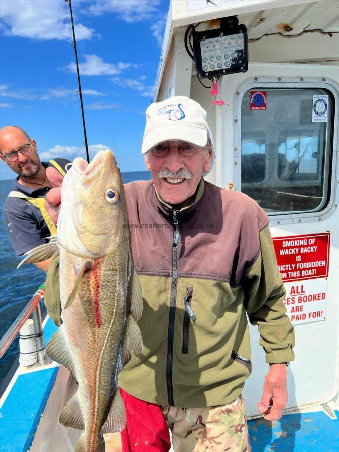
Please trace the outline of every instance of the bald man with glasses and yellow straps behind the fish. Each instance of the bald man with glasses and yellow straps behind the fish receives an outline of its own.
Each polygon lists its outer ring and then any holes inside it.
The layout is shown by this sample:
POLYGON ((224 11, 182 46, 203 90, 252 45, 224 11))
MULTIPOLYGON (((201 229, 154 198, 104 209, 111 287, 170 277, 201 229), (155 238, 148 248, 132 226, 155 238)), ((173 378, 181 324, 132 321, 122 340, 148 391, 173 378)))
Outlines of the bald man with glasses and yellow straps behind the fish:
MULTIPOLYGON (((4 203, 7 232, 16 254, 22 255, 47 242, 56 233, 55 226, 44 208, 44 196, 52 187, 46 168, 52 166, 65 174, 65 159, 41 162, 37 144, 17 126, 0 129, 0 158, 15 173, 14 186, 4 203)), ((36 266, 47 271, 50 259, 36 266)))

